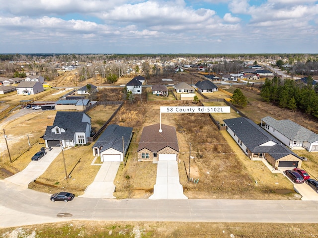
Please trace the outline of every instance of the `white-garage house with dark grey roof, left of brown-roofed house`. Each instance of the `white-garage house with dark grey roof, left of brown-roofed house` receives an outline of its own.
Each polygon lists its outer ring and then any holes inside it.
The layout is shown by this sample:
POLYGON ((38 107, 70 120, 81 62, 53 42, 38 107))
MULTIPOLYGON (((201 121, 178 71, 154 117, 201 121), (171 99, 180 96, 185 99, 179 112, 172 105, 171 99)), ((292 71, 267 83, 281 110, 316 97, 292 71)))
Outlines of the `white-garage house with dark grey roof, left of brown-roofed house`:
POLYGON ((123 162, 132 136, 133 127, 108 125, 92 146, 93 156, 100 156, 101 162, 123 162))

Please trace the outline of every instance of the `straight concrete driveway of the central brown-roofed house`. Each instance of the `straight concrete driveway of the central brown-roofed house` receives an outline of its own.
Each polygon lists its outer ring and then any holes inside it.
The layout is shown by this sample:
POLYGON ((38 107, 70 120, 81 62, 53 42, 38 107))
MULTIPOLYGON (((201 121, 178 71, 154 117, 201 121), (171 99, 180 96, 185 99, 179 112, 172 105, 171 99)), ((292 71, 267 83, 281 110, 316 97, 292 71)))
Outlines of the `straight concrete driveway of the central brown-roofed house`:
POLYGON ((158 161, 154 194, 149 199, 188 199, 183 194, 177 161, 158 161))

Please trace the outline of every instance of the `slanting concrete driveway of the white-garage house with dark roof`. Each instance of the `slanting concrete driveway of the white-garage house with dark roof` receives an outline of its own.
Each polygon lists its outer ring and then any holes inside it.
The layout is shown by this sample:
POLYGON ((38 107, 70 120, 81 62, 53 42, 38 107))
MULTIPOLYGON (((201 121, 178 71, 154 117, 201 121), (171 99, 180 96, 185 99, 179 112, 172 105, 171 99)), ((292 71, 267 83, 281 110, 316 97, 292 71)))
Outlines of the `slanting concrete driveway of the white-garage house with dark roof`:
POLYGON ((79 197, 91 198, 116 198, 114 179, 116 177, 120 162, 103 162, 94 181, 89 184, 83 195, 79 197))

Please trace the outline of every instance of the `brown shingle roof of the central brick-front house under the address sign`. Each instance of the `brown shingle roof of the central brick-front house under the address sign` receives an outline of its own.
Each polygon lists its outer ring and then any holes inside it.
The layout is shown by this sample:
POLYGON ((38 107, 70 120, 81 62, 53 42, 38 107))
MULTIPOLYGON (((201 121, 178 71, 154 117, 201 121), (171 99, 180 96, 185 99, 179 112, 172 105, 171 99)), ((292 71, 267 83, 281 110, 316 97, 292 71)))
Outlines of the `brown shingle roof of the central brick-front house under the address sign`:
POLYGON ((137 151, 144 148, 152 152, 170 147, 179 152, 178 139, 174 126, 161 124, 162 132, 159 132, 160 124, 145 126, 140 137, 137 151))

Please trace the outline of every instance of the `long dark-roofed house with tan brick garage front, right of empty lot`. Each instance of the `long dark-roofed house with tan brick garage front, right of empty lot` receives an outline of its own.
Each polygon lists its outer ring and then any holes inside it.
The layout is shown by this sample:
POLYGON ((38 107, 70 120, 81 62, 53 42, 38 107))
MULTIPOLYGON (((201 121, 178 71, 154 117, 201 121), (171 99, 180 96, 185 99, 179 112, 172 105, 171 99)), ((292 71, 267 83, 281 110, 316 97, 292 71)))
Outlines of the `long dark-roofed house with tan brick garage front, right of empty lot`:
POLYGON ((302 159, 247 118, 223 120, 228 133, 251 160, 266 159, 273 168, 301 168, 302 159))

